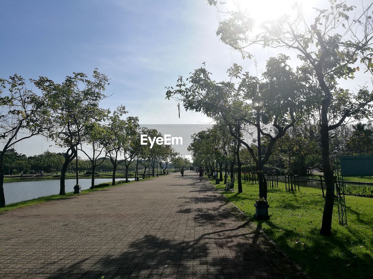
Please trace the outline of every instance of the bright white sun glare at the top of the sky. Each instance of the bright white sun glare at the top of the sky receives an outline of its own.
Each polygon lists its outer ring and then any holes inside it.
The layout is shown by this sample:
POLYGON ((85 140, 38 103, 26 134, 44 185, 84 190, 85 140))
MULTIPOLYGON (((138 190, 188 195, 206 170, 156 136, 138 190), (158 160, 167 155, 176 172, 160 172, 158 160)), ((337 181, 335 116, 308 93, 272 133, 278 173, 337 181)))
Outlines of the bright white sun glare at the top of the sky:
POLYGON ((228 9, 245 10, 250 17, 253 17, 256 26, 261 23, 277 19, 283 15, 291 15, 294 13, 294 7, 297 6, 296 0, 231 0, 226 3, 228 9))

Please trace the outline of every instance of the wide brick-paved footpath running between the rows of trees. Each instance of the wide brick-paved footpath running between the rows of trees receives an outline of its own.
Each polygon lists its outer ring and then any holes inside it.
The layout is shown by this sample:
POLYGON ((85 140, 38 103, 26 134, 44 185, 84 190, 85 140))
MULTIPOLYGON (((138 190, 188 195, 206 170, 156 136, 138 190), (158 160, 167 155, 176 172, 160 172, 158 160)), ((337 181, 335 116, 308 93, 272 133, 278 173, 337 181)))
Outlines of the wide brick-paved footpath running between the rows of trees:
POLYGON ((192 171, 0 215, 0 278, 302 278, 192 171))

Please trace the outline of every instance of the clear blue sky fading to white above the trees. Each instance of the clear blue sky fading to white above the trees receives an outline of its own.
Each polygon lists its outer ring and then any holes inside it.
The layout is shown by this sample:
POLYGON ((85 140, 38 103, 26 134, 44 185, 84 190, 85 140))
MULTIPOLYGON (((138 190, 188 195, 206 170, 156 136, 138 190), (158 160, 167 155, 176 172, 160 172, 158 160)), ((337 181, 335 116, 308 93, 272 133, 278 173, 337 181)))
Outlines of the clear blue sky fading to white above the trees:
MULTIPOLYGON (((227 5, 231 5, 229 1, 227 5)), ((350 4, 361 6, 354 2, 350 4)), ((262 19, 277 15, 279 9, 289 10, 292 0, 242 3, 262 19)), ((312 7, 320 3, 327 1, 303 1, 311 19, 312 7)), ((164 87, 175 85, 179 75, 188 75, 202 62, 217 81, 226 78, 226 69, 233 62, 256 73, 254 60, 242 61, 239 54, 219 42, 217 26, 216 9, 205 0, 3 0, 0 77, 17 73, 26 79, 47 76, 62 82, 73 71, 89 75, 98 68, 111 78, 106 90, 111 96, 101 102, 104 108, 125 105, 129 115, 139 116, 141 124, 210 123, 200 113, 184 110, 179 119, 176 103, 165 100, 164 87)), ((256 56, 259 74, 269 56, 285 52, 295 58, 286 50, 257 47, 248 51, 256 56)), ((349 80, 347 87, 354 89, 365 80, 349 80)), ((16 149, 27 155, 57 151, 41 137, 22 145, 16 149)))

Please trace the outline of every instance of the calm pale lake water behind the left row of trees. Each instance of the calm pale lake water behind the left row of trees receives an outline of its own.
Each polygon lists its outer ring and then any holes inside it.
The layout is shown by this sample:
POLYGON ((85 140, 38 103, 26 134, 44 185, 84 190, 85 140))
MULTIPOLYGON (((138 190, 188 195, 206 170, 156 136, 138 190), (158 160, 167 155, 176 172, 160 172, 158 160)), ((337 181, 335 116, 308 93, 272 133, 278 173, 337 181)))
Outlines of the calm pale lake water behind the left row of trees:
MULTIPOLYGON (((124 178, 117 178, 116 181, 125 180, 124 178)), ((128 180, 134 180, 129 178, 128 180)), ((111 178, 96 178, 95 184, 103 182, 112 182, 111 178)), ((74 192, 75 179, 65 180, 66 193, 74 192)), ((90 178, 79 178, 79 185, 81 190, 91 187, 90 178)), ((60 193, 60 180, 59 179, 40 179, 40 180, 27 180, 17 182, 4 183, 4 196, 5 204, 27 201, 44 196, 58 195, 60 193)))

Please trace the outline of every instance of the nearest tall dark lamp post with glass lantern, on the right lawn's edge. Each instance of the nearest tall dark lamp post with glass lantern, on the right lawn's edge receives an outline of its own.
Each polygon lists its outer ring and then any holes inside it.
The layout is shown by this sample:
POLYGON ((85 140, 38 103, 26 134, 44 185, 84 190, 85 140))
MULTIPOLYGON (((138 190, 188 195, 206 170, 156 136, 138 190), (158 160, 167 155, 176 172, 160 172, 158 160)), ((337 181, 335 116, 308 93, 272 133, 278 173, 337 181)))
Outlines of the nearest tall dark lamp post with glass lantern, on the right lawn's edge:
POLYGON ((257 111, 257 127, 258 127, 258 182, 259 182, 259 198, 254 204, 255 218, 257 219, 269 219, 268 215, 268 202, 264 199, 264 185, 263 185, 263 171, 261 166, 261 146, 260 146, 260 110, 263 109, 264 99, 259 95, 259 87, 257 89, 258 94, 253 98, 253 108, 257 111))

